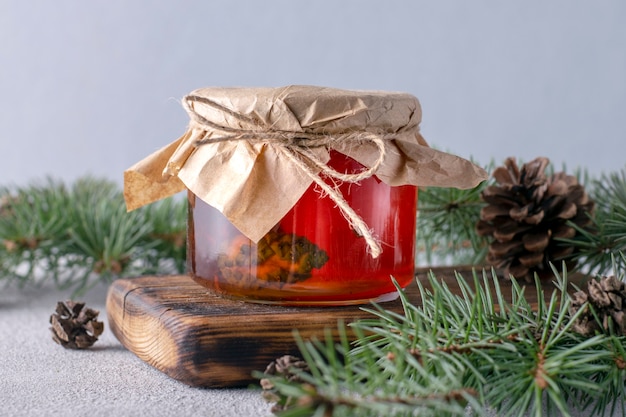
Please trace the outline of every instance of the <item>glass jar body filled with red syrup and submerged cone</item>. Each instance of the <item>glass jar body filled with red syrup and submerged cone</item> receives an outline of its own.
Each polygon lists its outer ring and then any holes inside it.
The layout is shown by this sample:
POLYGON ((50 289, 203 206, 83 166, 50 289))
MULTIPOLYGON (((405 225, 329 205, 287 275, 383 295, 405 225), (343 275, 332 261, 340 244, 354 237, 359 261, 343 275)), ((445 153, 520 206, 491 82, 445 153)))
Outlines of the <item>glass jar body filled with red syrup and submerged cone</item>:
MULTIPOLYGON (((359 172, 355 160, 331 151, 339 172, 359 172)), ((348 305, 397 298, 414 279, 417 187, 392 187, 376 176, 339 189, 381 242, 373 258, 335 203, 312 184, 258 243, 218 210, 189 196, 188 269, 219 295, 282 305, 348 305)))

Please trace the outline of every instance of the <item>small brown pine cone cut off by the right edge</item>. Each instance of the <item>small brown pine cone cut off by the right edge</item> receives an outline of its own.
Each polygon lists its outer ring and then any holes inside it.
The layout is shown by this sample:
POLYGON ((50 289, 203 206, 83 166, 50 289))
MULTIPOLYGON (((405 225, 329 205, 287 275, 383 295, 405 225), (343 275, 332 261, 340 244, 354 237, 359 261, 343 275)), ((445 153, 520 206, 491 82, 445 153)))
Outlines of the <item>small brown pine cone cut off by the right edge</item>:
POLYGON ((597 332, 626 336, 626 284, 615 276, 591 279, 587 290, 572 295, 570 314, 584 309, 572 325, 572 330, 583 336, 597 332), (596 317, 594 317, 594 314, 596 317))

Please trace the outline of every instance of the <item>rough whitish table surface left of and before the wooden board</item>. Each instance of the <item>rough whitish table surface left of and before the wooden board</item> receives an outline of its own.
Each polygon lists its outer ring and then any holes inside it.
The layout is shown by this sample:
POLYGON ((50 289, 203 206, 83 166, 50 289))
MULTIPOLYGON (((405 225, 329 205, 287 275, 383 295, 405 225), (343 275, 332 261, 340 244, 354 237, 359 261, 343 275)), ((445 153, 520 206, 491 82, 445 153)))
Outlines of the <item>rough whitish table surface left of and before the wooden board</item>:
POLYGON ((106 286, 81 300, 105 331, 87 350, 54 343, 49 318, 68 292, 0 287, 0 416, 271 416, 259 391, 175 381, 126 350, 108 329, 106 286))

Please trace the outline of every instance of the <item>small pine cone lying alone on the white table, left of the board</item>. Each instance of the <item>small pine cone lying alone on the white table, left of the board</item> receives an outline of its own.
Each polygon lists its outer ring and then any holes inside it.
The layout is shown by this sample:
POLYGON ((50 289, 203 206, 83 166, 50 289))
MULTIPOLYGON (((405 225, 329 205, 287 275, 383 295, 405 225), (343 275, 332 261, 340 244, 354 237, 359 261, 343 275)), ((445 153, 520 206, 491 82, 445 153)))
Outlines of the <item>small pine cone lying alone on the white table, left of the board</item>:
POLYGON ((90 347, 104 331, 104 323, 96 320, 98 314, 85 308, 85 303, 59 301, 56 313, 50 316, 52 340, 68 349, 90 347))

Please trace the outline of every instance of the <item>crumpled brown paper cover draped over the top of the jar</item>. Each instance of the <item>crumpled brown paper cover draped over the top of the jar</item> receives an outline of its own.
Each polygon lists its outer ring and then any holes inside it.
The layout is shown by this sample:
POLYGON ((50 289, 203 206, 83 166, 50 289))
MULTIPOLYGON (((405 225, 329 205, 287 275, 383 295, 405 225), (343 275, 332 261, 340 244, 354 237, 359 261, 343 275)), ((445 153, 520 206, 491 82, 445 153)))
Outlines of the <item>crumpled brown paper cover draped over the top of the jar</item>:
POLYGON ((191 117, 187 132, 124 173, 128 210, 187 188, 257 242, 313 182, 323 183, 322 171, 333 176, 325 166, 329 149, 393 186, 466 189, 487 178, 471 162, 428 147, 419 102, 409 94, 204 88, 183 105, 191 117))

